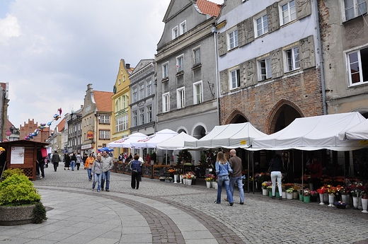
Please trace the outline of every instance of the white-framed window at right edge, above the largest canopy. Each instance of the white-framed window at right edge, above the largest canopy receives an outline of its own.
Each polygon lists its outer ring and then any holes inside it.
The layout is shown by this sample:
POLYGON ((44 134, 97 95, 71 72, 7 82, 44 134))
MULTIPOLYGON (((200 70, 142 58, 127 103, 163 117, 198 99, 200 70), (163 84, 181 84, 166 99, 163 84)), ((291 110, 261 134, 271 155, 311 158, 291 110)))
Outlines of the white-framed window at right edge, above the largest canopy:
POLYGON ((351 85, 368 83, 368 47, 347 54, 351 85))

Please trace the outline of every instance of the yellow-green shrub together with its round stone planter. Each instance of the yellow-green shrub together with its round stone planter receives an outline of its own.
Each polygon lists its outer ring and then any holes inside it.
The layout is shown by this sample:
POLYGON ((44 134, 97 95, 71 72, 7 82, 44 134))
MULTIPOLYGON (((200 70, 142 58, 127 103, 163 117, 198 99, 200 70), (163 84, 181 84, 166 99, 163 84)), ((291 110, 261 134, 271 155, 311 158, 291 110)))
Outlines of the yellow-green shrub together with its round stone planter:
POLYGON ((4 171, 0 182, 0 225, 41 223, 46 220, 46 209, 41 195, 24 175, 23 170, 4 171))

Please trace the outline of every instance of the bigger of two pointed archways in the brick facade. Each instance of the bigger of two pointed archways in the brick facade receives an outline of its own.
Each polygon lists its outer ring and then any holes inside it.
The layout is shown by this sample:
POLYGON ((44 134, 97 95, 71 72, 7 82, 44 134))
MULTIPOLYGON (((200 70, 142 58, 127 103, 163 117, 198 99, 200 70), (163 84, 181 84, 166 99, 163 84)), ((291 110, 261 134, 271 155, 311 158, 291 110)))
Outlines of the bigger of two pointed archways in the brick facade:
MULTIPOLYGON (((305 117, 304 113, 301 112, 301 109, 297 105, 295 105, 289 100, 281 99, 279 102, 275 104, 275 106, 273 106, 270 114, 267 117, 267 120, 265 122, 265 132, 266 133, 272 134, 280 130, 280 129, 276 130, 277 121, 279 120, 280 115, 282 115, 284 111, 288 109, 289 110, 292 109, 293 110, 292 114, 294 114, 293 117, 288 117, 288 119, 294 120, 297 117, 305 117)), ((290 123, 287 123, 284 125, 286 127, 289 124, 290 123)))

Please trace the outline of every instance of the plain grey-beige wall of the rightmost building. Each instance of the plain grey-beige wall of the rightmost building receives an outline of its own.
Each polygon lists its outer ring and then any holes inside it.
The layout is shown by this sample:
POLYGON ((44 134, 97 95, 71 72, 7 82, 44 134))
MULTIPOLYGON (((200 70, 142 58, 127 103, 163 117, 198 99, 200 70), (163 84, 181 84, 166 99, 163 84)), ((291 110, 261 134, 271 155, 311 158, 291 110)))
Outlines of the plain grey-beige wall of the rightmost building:
MULTIPOLYGON (((362 16, 345 21, 344 2, 340 0, 318 1, 318 7, 328 113, 368 112, 368 80, 359 85, 350 83, 347 57, 350 52, 368 48, 367 15, 365 21, 362 16)), ((367 66, 360 69, 368 72, 367 66)))

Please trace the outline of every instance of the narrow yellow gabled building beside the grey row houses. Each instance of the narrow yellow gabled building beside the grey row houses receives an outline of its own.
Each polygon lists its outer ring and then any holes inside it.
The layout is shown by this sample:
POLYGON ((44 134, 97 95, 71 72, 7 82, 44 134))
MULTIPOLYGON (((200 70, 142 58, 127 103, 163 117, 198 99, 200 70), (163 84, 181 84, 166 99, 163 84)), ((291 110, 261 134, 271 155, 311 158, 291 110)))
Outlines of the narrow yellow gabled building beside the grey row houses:
MULTIPOLYGON (((125 64, 124 59, 120 59, 119 71, 117 73, 113 88, 113 115, 112 115, 112 136, 111 141, 116 141, 130 134, 130 79, 134 68, 130 64, 125 64)), ((129 149, 117 148, 114 157, 129 149)))

